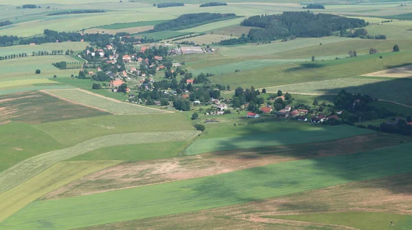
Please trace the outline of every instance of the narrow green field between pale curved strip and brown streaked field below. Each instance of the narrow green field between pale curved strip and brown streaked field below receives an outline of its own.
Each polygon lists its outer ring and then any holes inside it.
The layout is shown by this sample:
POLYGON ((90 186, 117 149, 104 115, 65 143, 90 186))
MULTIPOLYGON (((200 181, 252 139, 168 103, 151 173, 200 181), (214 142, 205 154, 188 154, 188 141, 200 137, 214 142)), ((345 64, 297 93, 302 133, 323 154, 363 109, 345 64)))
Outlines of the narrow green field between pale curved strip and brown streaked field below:
POLYGON ((187 142, 156 142, 150 144, 126 144, 90 151, 68 161, 124 160, 139 161, 176 157, 183 151, 187 142))

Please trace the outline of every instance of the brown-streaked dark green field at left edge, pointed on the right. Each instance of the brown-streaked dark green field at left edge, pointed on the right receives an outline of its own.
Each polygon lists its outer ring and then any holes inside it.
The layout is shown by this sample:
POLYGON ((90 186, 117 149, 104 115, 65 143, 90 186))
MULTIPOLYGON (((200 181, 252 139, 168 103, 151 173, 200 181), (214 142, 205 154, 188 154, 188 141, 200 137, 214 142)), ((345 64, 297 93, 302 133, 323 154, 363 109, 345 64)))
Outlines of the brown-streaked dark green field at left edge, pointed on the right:
POLYGON ((108 114, 34 91, 0 96, 0 103, 0 123, 7 120, 45 123, 108 114))

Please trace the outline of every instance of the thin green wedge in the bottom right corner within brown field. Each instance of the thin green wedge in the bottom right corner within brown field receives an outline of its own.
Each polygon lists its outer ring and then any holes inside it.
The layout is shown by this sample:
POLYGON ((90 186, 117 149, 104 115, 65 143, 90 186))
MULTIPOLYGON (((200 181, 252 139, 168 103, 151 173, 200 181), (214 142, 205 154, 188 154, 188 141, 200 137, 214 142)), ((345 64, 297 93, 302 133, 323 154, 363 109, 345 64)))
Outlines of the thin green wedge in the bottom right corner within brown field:
POLYGON ((383 212, 332 212, 321 214, 301 214, 265 216, 265 218, 317 222, 341 225, 362 230, 407 230, 412 226, 412 216, 383 212), (390 225, 393 222, 393 225, 390 225))

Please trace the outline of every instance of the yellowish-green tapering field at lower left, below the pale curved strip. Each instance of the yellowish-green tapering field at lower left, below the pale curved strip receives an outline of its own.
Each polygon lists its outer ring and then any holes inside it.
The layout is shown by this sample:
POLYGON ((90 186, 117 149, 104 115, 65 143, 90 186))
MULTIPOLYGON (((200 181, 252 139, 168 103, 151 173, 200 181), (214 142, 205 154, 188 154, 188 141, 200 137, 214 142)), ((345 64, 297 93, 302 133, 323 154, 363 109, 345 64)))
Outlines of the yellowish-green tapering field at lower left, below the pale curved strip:
POLYGON ((41 196, 97 170, 119 162, 60 162, 25 183, 0 194, 0 221, 41 196))

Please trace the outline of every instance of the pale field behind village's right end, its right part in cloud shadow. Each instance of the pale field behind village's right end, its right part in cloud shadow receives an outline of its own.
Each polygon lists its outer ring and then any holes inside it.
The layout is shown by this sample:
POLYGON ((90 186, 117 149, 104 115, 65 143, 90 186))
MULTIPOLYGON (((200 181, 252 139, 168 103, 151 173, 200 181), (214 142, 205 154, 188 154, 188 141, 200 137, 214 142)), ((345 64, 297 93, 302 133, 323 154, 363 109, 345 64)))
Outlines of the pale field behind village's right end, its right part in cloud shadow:
POLYGON ((282 89, 285 92, 297 92, 306 94, 337 94, 341 90, 352 93, 369 94, 371 97, 387 101, 396 101, 406 105, 412 105, 410 88, 411 79, 383 77, 350 77, 326 81, 307 82, 305 84, 292 84, 288 86, 277 86, 266 88, 267 92, 277 92, 282 89), (396 93, 393 93, 396 89, 396 93))

